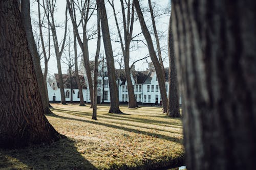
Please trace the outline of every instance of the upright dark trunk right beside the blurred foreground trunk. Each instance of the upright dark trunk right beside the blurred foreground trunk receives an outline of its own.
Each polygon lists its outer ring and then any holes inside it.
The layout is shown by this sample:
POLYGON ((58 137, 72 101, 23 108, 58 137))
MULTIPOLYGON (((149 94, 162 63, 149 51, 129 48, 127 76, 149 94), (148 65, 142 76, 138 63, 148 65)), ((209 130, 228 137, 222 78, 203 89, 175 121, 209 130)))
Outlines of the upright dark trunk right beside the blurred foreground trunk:
POLYGON ((168 28, 168 57, 169 57, 169 93, 168 109, 169 117, 180 117, 180 93, 177 79, 176 59, 174 53, 174 40, 172 32, 172 15, 168 28))

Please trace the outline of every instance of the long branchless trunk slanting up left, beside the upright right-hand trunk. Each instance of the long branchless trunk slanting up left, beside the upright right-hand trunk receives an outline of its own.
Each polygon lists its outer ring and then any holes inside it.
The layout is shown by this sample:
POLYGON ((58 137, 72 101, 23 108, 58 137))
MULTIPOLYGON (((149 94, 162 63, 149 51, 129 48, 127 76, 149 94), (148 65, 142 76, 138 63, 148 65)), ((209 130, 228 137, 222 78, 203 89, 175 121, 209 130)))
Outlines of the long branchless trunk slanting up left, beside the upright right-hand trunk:
POLYGON ((163 113, 167 112, 167 106, 168 106, 168 100, 167 100, 167 94, 166 94, 166 89, 165 89, 165 75, 163 75, 161 65, 157 59, 156 52, 154 50, 154 45, 152 42, 152 38, 150 33, 148 32, 148 29, 146 27, 146 23, 143 17, 143 14, 140 9, 140 4, 138 0, 134 0, 134 6, 138 14, 138 18, 140 21, 140 26, 142 33, 146 39, 147 47, 148 47, 148 52, 150 53, 151 60, 153 62, 153 65, 156 70, 156 75, 158 79, 158 84, 159 84, 159 90, 162 98, 162 103, 163 103, 163 113))

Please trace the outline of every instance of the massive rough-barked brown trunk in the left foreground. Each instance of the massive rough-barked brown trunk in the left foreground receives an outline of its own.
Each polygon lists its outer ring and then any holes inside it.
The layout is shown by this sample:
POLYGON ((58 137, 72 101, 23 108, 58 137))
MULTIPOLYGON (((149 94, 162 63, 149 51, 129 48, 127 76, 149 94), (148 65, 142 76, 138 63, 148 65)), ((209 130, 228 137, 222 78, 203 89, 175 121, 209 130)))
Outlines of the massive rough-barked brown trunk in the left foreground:
POLYGON ((0 2, 0 37, 0 147, 57 140, 44 116, 17 1, 0 2))

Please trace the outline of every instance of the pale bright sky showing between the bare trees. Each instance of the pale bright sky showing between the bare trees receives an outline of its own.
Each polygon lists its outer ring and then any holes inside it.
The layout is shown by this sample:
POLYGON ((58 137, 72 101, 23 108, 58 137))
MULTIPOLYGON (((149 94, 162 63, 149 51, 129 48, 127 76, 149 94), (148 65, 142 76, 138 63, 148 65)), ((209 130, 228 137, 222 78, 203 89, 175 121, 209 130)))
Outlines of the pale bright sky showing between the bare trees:
MULTIPOLYGON (((93 1, 91 1, 93 2, 93 1)), ((154 12, 159 12, 160 10, 164 10, 166 8, 168 8, 170 6, 169 0, 163 0, 163 1, 152 1, 152 4, 156 3, 158 5, 158 9, 156 9, 154 12)), ((114 4, 115 4, 115 10, 117 13, 117 18, 118 18, 118 22, 120 29, 122 28, 121 23, 122 23, 122 16, 121 16, 121 5, 120 5, 120 1, 119 0, 114 0, 114 4)), ((117 34, 117 29, 116 29, 116 24, 115 24, 115 20, 114 20, 114 15, 113 15, 113 10, 111 8, 111 6, 109 5, 109 3, 107 3, 107 1, 105 1, 105 6, 106 6, 106 12, 108 15, 108 21, 109 21, 109 29, 110 29, 110 34, 111 34, 111 39, 112 40, 119 40, 118 34, 117 34)), ((146 0, 144 1, 140 1, 140 6, 141 8, 148 8, 148 3, 146 0)), ((55 13, 55 18, 56 18, 56 22, 61 25, 64 26, 65 23, 65 9, 66 9, 66 1, 65 0, 57 0, 56 3, 56 7, 57 7, 57 11, 55 13)), ((42 8, 41 8, 41 15, 42 15, 42 8)), ((95 28, 97 29, 97 12, 94 12, 95 16, 92 16, 89 23, 88 23, 88 28, 95 28)), ((42 17, 42 16, 41 16, 42 17)), ((68 17, 69 17, 69 13, 68 13, 68 17)), ((135 10, 135 18, 136 17, 136 10, 135 10)), ((144 18, 146 21, 146 25, 149 29, 150 32, 152 32, 152 40, 155 43, 155 37, 153 34, 153 28, 152 28, 152 21, 150 18, 150 13, 145 13, 144 14, 144 18)), ((32 28, 34 30, 34 35, 35 32, 37 33, 37 35, 39 35, 39 28, 38 28, 38 24, 36 22, 38 22, 38 10, 37 10, 37 2, 35 2, 34 0, 31 1, 31 19, 32 19, 32 28)), ((166 58, 166 60, 164 61, 164 66, 167 67, 168 66, 168 57, 167 57, 167 31, 168 31, 168 21, 169 21, 169 13, 165 14, 165 15, 161 15, 160 17, 156 17, 156 27, 158 30, 158 36, 161 37, 160 38, 160 46, 161 48, 163 48, 164 50, 162 51, 162 57, 166 58)), ((71 39, 73 37, 73 31, 72 31, 72 23, 71 20, 68 20, 68 29, 70 32, 70 36, 71 39)), ((58 36, 58 41, 60 42, 61 39, 63 38, 63 34, 64 34, 64 27, 59 27, 56 29, 57 31, 57 36, 58 36)), ((46 29, 43 30, 45 35, 48 35, 46 32, 46 29)), ((81 32, 81 31, 79 31, 81 32)), ((137 35, 141 33, 141 28, 140 28, 140 23, 139 20, 136 19, 134 21, 134 31, 133 31, 133 35, 137 35)), ((97 36, 97 35, 96 35, 97 36)), ((95 36, 95 37, 96 37, 95 36)), ((69 35, 67 35, 67 39, 66 39, 66 43, 68 43, 68 39, 69 39, 69 35)), ((137 37, 137 40, 134 43, 134 45, 136 46, 135 48, 132 49, 132 51, 130 52, 130 65, 135 61, 138 60, 140 58, 143 58, 145 56, 148 56, 148 49, 147 46, 145 45, 145 39, 143 34, 140 34, 139 37, 137 37), (141 41, 144 41, 144 43, 142 43, 141 41), (137 43, 138 42, 138 43, 137 43), (138 47, 137 47, 138 46, 138 47)), ((45 38, 45 41, 47 41, 47 37, 45 38)), ((72 40, 73 41, 73 40, 72 40)), ((45 42, 46 43, 46 42, 45 42)), ((53 44, 53 41, 51 40, 51 43, 53 44)), ((89 41, 88 43, 88 47, 89 47, 89 58, 90 60, 94 60, 95 57, 95 53, 96 53, 96 44, 97 44, 97 39, 92 39, 89 41)), ((132 44, 131 44, 132 45, 132 44)), ((40 48, 40 47, 39 47, 40 48)), ((119 42, 114 42, 112 41, 112 48, 113 48, 113 55, 115 56, 114 59, 115 60, 120 60, 121 55, 121 46, 119 42)), ((77 49, 78 49, 78 54, 81 53, 80 47, 77 44, 77 49)), ((155 45, 155 50, 156 50, 156 45, 155 45)), ((41 49, 40 49, 41 51, 41 49)), ((56 62, 56 57, 55 57, 55 53, 54 53, 54 48, 51 48, 51 52, 52 52, 52 56, 49 60, 48 63, 48 70, 49 70, 49 75, 53 75, 55 73, 57 73, 57 62, 56 62)), ((101 38, 101 48, 100 48, 100 53, 104 54, 104 45, 103 45, 103 41, 101 38)), ((73 52, 71 52, 71 54, 73 55, 73 52)), ((68 47, 65 48, 64 54, 62 55, 64 58, 65 55, 68 55, 68 47)), ((80 57, 81 58, 81 57, 80 57)), ((80 58, 78 58, 78 62, 80 61, 80 58)), ((63 59, 65 60, 65 59, 63 59)), ((147 62, 151 62, 151 59, 148 57, 147 58, 147 62)), ((145 70, 148 67, 146 60, 142 60, 139 61, 135 64, 135 69, 136 70, 145 70)), ((42 69, 44 68, 44 61, 41 60, 41 65, 42 65, 42 69)), ((119 68, 119 65, 117 62, 115 62, 115 67, 119 68)), ((62 68, 62 73, 66 74, 67 73, 67 65, 65 63, 61 63, 61 68, 62 68)))

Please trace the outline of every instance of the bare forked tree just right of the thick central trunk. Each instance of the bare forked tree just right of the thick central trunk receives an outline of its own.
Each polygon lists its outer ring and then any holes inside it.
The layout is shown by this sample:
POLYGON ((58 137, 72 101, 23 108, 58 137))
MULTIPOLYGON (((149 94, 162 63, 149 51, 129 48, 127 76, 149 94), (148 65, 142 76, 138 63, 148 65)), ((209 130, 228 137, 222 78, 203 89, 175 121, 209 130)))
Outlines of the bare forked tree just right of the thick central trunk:
MULTIPOLYGON (((126 1, 125 1, 126 2, 126 1)), ((109 1, 111 5, 116 21, 116 28, 120 39, 120 45, 123 53, 123 61, 124 61, 124 70, 125 70, 125 77, 127 82, 128 94, 129 94, 129 106, 128 108, 136 108, 138 104, 135 99, 133 83, 131 78, 131 70, 129 66, 130 62, 130 43, 132 41, 132 34, 133 34, 133 23, 134 23, 134 4, 132 3, 131 9, 131 0, 128 0, 126 3, 126 7, 124 6, 123 0, 120 0, 121 8, 122 8, 122 18, 123 18, 123 37, 121 36, 121 31, 119 29, 119 24, 117 21, 116 11, 114 7, 114 0, 112 3, 109 1), (127 18, 125 14, 125 8, 127 8, 127 18), (130 27, 130 28, 129 28, 130 27), (124 42, 123 42, 124 40, 124 42)))

